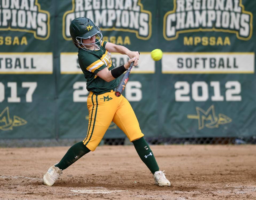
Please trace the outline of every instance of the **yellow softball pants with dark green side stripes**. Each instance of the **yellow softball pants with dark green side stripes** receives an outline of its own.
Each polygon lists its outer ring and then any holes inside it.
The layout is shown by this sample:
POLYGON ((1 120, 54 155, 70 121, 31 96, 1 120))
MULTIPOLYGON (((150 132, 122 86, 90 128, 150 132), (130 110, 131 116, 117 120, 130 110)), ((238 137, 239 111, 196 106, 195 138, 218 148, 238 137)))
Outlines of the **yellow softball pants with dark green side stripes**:
POLYGON ((130 103, 123 95, 116 97, 113 90, 100 95, 90 92, 87 107, 89 124, 83 143, 89 150, 96 149, 112 121, 131 142, 144 136, 130 103))

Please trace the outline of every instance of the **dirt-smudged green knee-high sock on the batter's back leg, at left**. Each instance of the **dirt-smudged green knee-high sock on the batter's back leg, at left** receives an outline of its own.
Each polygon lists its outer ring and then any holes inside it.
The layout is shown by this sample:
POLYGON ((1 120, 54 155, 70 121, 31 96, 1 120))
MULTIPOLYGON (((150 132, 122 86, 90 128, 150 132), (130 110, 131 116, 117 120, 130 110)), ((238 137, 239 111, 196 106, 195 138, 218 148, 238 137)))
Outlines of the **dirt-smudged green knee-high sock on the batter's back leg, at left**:
POLYGON ((83 155, 89 153, 90 150, 83 144, 83 142, 78 142, 69 148, 67 153, 61 159, 61 161, 56 165, 56 167, 64 170, 74 162, 76 162, 83 155))

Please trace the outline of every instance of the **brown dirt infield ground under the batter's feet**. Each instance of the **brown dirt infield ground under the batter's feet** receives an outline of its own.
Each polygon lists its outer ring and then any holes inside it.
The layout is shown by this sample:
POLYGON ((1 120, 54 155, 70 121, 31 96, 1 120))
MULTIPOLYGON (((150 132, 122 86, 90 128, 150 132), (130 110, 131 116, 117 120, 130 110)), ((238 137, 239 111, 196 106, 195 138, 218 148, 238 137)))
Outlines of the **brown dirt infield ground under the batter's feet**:
POLYGON ((171 187, 154 185, 133 146, 99 146, 42 185, 68 149, 0 148, 0 199, 256 199, 256 145, 151 145, 171 187))

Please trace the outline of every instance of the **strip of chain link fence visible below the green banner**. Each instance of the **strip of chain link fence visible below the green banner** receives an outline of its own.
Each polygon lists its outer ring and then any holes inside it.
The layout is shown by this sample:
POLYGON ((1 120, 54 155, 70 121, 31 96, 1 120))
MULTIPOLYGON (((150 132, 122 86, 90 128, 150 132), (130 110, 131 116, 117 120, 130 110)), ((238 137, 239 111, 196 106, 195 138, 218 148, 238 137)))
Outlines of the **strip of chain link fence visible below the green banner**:
MULTIPOLYGON (((256 144, 256 136, 253 137, 222 137, 222 138, 162 138, 145 137, 150 145, 241 145, 256 144)), ((72 146, 81 139, 0 139, 0 147, 48 147, 48 146, 72 146)), ((99 145, 132 145, 128 138, 103 138, 99 145)))

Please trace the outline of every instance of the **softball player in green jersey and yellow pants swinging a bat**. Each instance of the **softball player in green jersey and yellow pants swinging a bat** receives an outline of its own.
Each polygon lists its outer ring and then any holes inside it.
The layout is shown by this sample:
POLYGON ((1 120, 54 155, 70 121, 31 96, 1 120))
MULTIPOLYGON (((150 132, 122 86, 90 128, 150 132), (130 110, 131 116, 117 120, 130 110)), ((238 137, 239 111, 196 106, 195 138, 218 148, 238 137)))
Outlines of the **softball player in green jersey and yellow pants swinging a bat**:
POLYGON ((84 17, 74 19, 70 24, 70 35, 78 47, 78 61, 87 81, 86 89, 90 91, 87 100, 89 110, 88 132, 82 142, 78 142, 67 151, 60 162, 51 166, 43 177, 45 185, 52 186, 66 169, 86 153, 94 151, 113 121, 133 143, 141 160, 152 172, 155 183, 170 186, 164 171, 159 171, 156 159, 141 133, 139 122, 130 103, 121 95, 115 96, 119 84, 118 77, 134 61, 138 65, 139 52, 130 51, 124 46, 102 41, 99 27, 84 17), (96 39, 96 36, 99 39, 96 39), (114 67, 111 53, 117 52, 129 56, 129 61, 114 67))

